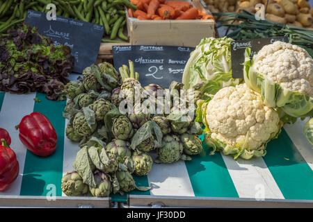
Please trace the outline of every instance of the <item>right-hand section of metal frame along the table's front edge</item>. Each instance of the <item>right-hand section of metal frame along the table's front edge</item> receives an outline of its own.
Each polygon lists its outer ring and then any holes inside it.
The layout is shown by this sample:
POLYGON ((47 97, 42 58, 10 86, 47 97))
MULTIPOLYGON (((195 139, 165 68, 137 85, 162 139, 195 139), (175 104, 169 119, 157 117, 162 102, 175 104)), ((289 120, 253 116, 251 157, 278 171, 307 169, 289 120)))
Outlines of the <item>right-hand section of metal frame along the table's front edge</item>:
POLYGON ((129 195, 124 208, 313 208, 313 200, 129 195))

